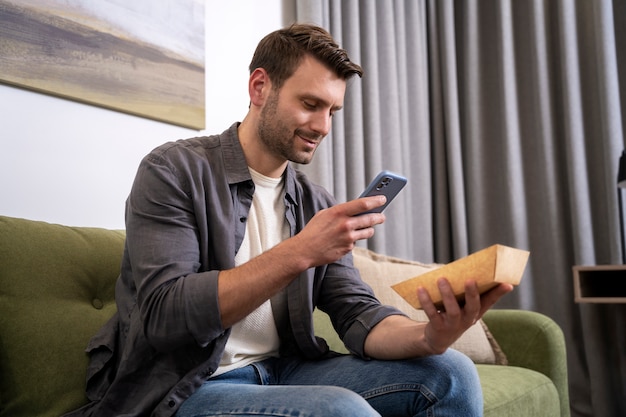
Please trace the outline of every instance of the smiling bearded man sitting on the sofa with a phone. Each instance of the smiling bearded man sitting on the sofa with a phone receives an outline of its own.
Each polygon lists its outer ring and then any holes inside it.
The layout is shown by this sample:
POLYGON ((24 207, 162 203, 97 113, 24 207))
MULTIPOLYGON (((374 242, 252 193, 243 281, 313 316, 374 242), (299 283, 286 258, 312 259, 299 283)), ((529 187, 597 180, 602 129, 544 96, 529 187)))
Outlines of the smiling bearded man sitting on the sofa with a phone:
POLYGON ((250 108, 221 135, 165 144, 142 161, 127 201, 118 312, 89 345, 89 416, 482 414, 473 364, 449 350, 510 291, 445 312, 419 292, 417 323, 381 305, 350 251, 384 204, 337 204, 289 161, 308 163, 361 76, 321 28, 266 36, 250 65, 250 108), (326 311, 353 352, 314 335, 326 311), (311 387, 314 385, 315 387, 311 387))

